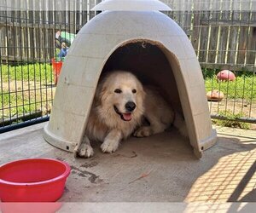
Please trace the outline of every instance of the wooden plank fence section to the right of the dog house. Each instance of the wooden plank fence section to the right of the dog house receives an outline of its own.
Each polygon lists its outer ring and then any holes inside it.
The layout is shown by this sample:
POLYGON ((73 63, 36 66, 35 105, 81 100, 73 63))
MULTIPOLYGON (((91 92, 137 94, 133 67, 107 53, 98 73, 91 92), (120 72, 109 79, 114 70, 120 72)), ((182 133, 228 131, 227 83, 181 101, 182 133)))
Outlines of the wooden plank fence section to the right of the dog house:
POLYGON ((183 27, 201 66, 256 72, 256 12, 224 10, 224 3, 219 2, 218 11, 192 9, 166 14, 183 27))

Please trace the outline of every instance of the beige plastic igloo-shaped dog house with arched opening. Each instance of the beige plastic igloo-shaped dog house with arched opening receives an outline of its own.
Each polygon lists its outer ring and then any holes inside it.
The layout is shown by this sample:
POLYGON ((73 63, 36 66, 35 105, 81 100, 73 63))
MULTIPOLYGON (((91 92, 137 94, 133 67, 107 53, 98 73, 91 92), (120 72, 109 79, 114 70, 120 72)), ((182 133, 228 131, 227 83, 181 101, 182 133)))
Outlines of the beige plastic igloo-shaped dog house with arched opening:
POLYGON ((169 10, 157 0, 109 0, 80 30, 61 69, 44 138, 73 152, 82 140, 102 72, 134 72, 143 83, 157 85, 166 100, 183 112, 194 153, 212 147, 212 130, 201 66, 187 35, 156 10, 169 10), (143 3, 147 2, 147 3, 143 3))

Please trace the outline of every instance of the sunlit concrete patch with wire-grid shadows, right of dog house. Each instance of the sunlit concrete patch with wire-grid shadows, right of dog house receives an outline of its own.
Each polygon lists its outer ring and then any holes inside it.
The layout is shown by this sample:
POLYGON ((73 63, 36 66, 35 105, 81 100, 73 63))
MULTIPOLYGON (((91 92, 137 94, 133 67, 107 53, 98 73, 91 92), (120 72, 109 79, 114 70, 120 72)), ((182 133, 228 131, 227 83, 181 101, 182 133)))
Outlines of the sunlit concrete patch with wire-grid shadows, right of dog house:
POLYGON ((185 200, 255 202, 255 147, 253 137, 218 137, 218 144, 205 156, 212 166, 208 164, 207 170, 197 177, 185 200))

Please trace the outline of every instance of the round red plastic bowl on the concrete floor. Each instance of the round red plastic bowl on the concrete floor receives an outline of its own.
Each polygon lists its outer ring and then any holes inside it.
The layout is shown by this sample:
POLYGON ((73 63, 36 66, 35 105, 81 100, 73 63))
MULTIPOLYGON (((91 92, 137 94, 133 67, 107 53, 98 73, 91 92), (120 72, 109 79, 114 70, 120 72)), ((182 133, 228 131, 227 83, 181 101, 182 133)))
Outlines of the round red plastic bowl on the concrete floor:
POLYGON ((53 202, 61 198, 70 166, 50 158, 21 159, 0 166, 0 200, 53 202))

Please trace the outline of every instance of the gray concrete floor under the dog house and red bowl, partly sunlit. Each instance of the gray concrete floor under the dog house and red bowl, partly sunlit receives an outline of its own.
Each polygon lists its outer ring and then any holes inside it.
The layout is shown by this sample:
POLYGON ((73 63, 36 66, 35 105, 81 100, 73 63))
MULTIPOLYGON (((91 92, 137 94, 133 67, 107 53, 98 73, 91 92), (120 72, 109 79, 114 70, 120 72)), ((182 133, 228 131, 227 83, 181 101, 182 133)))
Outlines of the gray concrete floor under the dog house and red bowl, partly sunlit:
POLYGON ((44 125, 0 135, 0 164, 41 157, 66 161, 72 174, 60 201, 256 201, 255 131, 218 128, 217 145, 200 160, 176 130, 130 138, 112 154, 95 144, 94 157, 85 159, 45 142, 44 125))

